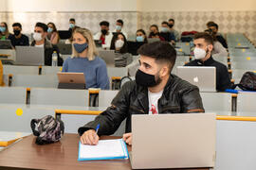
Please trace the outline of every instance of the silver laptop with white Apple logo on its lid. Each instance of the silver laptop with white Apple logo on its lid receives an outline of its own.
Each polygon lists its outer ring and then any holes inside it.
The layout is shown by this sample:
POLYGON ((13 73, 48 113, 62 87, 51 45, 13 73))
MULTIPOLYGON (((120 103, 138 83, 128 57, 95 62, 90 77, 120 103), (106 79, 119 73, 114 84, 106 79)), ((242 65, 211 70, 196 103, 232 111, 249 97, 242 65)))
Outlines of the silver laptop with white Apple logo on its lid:
POLYGON ((178 66, 177 76, 197 86, 200 92, 216 92, 215 67, 178 66))

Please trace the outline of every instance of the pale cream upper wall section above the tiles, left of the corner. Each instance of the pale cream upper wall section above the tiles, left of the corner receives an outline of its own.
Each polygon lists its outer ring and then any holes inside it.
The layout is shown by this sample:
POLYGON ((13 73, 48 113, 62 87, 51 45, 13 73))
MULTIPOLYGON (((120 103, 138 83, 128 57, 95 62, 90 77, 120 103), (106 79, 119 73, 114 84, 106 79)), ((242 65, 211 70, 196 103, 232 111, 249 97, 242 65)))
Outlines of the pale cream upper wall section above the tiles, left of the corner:
POLYGON ((0 11, 136 11, 137 0, 0 0, 0 11))

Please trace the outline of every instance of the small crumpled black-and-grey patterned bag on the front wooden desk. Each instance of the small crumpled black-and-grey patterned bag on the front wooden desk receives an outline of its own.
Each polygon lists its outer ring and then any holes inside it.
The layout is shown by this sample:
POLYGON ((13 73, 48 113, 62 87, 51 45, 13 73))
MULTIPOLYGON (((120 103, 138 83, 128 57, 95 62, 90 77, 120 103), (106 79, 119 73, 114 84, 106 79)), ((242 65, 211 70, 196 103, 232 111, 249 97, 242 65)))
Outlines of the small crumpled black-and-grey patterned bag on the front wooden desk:
POLYGON ((46 115, 42 119, 32 119, 30 126, 33 134, 37 136, 36 144, 55 143, 64 135, 64 122, 51 115, 46 115))

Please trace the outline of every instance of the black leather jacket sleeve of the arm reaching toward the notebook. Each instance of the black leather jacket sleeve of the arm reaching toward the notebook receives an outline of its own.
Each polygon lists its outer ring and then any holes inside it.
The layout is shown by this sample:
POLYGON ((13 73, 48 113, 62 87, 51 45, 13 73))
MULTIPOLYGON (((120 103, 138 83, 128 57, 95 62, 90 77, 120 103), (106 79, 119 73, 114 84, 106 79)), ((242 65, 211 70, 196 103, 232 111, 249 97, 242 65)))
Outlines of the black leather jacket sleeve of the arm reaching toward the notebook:
POLYGON ((94 121, 80 127, 78 132, 80 135, 88 129, 95 129, 99 124, 100 128, 98 134, 101 135, 111 135, 118 128, 121 122, 127 117, 129 109, 129 95, 130 95, 130 85, 131 82, 124 84, 112 100, 111 106, 103 111, 99 116, 95 118, 94 121))

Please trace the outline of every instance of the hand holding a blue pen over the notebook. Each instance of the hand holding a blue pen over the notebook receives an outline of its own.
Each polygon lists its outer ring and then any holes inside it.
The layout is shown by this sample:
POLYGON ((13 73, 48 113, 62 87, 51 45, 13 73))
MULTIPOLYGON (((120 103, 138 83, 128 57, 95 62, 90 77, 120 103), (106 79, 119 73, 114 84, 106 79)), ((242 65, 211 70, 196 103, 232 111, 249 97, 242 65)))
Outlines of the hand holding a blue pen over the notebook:
POLYGON ((99 136, 94 129, 90 129, 82 134, 80 141, 82 144, 97 145, 99 142, 99 136))

